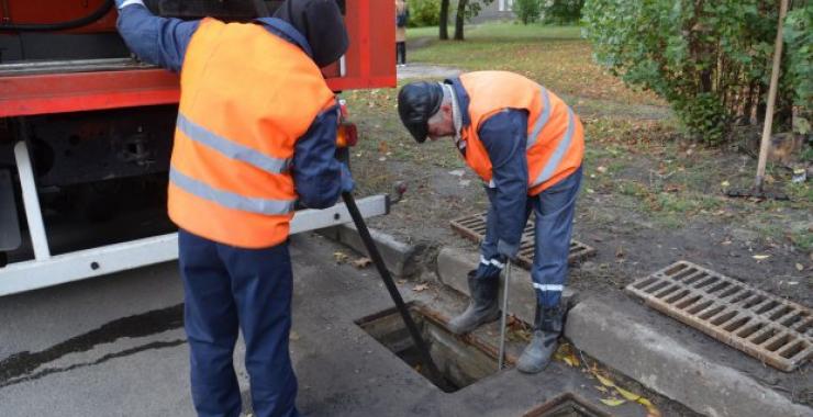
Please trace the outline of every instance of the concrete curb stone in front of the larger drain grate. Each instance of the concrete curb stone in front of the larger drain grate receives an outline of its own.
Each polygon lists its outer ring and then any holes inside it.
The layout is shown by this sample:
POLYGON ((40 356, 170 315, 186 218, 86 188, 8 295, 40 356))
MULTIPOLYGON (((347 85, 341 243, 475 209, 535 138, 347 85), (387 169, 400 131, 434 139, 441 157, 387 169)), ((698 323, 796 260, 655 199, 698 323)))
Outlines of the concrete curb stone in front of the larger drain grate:
POLYGON ((642 323, 632 308, 584 300, 568 314, 565 336, 597 360, 709 416, 811 415, 811 408, 703 358, 653 324, 642 323))

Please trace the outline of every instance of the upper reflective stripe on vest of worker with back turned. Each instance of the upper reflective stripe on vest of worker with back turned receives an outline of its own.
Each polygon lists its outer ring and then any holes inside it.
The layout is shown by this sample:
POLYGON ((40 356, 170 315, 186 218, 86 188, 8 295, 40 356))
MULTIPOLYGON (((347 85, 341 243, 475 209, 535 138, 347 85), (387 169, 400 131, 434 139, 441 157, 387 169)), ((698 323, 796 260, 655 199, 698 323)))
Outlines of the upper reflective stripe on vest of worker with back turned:
POLYGON ((229 158, 246 162, 268 173, 286 172, 290 166, 290 159, 274 158, 243 145, 235 144, 190 121, 180 112, 178 112, 177 126, 191 140, 209 146, 229 158))

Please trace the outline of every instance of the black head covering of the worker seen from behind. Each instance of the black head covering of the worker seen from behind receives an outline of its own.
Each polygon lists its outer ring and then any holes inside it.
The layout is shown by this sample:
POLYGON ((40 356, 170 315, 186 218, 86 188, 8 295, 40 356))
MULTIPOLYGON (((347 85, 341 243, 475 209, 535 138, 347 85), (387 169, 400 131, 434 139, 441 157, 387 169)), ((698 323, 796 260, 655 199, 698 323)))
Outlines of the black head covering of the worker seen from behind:
POLYGON ((288 0, 274 13, 301 33, 313 50, 313 61, 324 67, 347 52, 349 38, 336 0, 288 0))

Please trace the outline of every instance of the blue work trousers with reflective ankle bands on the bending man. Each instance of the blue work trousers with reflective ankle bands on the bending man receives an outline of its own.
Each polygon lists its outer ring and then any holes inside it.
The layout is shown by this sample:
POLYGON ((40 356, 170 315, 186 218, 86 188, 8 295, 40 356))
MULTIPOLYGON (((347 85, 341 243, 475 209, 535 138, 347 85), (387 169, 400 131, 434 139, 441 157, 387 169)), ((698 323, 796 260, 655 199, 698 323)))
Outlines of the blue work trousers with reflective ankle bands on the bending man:
MULTIPOLYGON (((567 283, 570 235, 573 229, 576 199, 581 185, 581 168, 554 187, 537 195, 528 196, 525 217, 534 212, 534 264, 531 278, 539 305, 555 307, 561 301, 567 283)), ((493 193, 489 193, 491 199, 493 193)), ((497 213, 493 203, 486 218, 486 238, 480 245, 480 264, 477 278, 497 277, 505 259, 497 251, 497 213)))

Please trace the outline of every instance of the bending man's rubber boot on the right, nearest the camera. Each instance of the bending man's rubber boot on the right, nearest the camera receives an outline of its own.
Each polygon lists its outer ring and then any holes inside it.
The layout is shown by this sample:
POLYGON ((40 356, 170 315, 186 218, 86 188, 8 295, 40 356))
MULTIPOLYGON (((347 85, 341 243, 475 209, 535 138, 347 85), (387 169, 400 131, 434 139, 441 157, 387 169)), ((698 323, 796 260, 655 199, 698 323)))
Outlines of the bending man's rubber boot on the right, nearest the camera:
POLYGON ((552 308, 536 306, 534 338, 531 339, 516 362, 516 369, 520 372, 538 373, 550 363, 550 357, 559 346, 564 318, 565 311, 560 306, 552 308))

